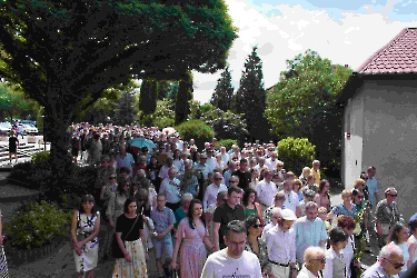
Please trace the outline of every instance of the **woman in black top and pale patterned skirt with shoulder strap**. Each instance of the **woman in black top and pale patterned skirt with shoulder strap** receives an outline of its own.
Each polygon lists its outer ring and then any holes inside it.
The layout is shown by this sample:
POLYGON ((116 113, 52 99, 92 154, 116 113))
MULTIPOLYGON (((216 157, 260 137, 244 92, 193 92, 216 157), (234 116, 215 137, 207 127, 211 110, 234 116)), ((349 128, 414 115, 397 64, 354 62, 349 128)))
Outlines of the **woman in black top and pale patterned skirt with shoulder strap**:
POLYGON ((125 258, 117 258, 112 278, 146 278, 146 238, 143 218, 137 215, 137 203, 133 199, 125 202, 125 214, 116 222, 116 239, 125 258))

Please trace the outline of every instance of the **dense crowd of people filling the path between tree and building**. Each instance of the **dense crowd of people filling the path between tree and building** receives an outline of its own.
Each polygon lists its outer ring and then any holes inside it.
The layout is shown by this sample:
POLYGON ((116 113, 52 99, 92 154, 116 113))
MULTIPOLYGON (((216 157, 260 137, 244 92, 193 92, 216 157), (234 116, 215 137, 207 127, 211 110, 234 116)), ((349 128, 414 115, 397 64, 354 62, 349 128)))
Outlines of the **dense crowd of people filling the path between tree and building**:
POLYGON ((75 161, 98 167, 95 190, 72 220, 80 276, 93 277, 100 244, 100 259, 116 258, 112 277, 147 277, 152 251, 160 277, 354 278, 371 222, 381 249, 363 277, 401 277, 417 258, 417 216, 409 234, 396 189, 379 200, 375 167, 331 203, 320 161, 300 166, 299 176, 286 171, 272 142, 227 149, 214 138, 199 149, 156 127, 71 131, 75 161), (155 145, 132 147, 135 138, 155 145), (99 239, 100 225, 107 235, 99 239))

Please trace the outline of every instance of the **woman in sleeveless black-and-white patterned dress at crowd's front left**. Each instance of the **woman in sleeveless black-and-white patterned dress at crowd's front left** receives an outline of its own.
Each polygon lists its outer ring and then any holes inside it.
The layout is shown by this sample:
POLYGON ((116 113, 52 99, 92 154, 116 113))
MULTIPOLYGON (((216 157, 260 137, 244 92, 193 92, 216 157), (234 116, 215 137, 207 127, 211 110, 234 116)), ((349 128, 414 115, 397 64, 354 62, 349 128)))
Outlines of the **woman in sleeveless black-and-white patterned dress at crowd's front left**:
POLYGON ((80 208, 73 211, 71 240, 76 260, 77 277, 95 277, 97 267, 100 230, 100 212, 96 211, 95 198, 86 195, 81 198, 80 208))

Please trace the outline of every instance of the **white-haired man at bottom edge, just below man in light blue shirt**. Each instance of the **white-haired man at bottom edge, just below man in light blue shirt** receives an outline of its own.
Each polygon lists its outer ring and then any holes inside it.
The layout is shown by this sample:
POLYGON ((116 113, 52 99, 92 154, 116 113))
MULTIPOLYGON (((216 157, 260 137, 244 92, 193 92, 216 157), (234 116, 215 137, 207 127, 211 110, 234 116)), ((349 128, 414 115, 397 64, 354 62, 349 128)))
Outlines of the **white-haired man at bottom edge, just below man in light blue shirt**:
POLYGON ((320 277, 319 272, 325 268, 326 264, 325 250, 317 246, 308 247, 304 252, 304 260, 306 262, 302 265, 297 278, 320 277))

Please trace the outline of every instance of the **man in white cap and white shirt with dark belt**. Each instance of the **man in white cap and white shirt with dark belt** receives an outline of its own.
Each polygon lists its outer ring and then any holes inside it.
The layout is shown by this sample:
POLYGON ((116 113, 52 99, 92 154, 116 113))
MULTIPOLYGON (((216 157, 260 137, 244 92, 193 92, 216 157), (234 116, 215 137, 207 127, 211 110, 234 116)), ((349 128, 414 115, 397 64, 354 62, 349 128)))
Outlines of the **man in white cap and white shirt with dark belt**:
POLYGON ((277 278, 295 278, 296 270, 296 234, 292 229, 296 214, 282 209, 278 224, 266 235, 268 259, 271 272, 277 278))

